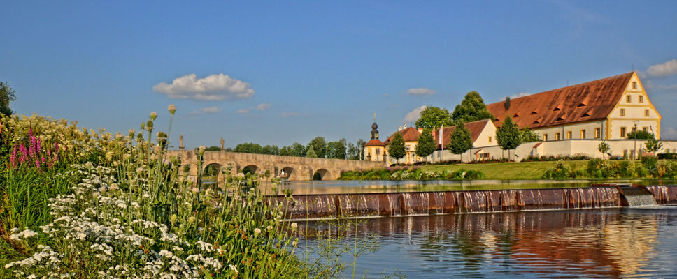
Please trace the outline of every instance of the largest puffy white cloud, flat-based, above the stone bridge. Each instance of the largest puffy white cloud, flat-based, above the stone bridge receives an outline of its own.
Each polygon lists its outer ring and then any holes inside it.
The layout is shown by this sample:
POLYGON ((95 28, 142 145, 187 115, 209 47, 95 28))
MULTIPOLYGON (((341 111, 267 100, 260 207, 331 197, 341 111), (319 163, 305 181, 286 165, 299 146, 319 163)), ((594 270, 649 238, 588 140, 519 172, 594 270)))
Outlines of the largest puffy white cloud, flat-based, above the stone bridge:
POLYGON ((195 74, 177 77, 171 84, 160 82, 152 90, 164 93, 172 99, 237 100, 254 96, 250 84, 228 75, 208 75, 197 79, 195 74))

